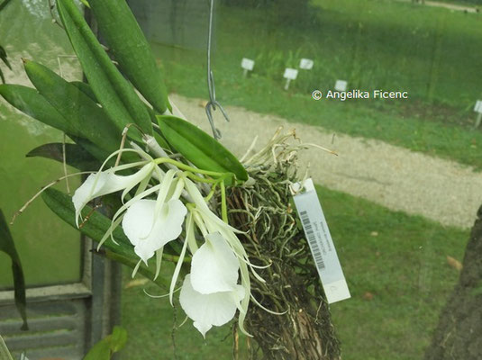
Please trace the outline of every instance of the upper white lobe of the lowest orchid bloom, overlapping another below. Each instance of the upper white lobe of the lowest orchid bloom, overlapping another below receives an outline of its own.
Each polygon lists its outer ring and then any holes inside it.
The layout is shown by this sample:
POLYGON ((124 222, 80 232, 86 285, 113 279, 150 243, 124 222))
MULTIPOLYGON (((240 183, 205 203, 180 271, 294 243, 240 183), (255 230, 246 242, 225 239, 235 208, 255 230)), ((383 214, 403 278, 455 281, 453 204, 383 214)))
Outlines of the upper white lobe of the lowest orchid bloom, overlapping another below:
POLYGON ((198 293, 230 292, 238 283, 240 263, 219 232, 209 234, 191 262, 191 284, 198 293))

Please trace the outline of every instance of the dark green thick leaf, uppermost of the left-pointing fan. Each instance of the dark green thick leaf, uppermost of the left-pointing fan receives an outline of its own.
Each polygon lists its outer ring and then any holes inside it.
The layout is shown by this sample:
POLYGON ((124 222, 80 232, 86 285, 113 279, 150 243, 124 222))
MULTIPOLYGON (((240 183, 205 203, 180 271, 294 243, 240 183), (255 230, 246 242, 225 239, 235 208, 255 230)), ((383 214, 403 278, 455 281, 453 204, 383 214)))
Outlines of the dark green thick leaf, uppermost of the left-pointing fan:
POLYGON ((115 128, 97 103, 50 68, 27 60, 24 66, 32 84, 67 122, 65 132, 89 139, 108 152, 119 147, 121 130, 115 128))

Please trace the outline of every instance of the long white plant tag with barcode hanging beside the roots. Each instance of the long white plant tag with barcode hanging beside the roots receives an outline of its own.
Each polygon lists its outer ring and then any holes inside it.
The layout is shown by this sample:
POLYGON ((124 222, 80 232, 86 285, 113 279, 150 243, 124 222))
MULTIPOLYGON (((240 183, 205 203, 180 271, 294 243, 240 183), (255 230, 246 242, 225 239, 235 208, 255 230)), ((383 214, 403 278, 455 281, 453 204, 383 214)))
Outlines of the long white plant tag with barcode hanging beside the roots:
POLYGON ((291 186, 296 210, 305 230, 316 269, 322 280, 328 303, 350 299, 350 290, 333 245, 332 235, 324 219, 323 209, 314 190, 312 179, 291 186), (300 189, 303 190, 300 193, 300 189))

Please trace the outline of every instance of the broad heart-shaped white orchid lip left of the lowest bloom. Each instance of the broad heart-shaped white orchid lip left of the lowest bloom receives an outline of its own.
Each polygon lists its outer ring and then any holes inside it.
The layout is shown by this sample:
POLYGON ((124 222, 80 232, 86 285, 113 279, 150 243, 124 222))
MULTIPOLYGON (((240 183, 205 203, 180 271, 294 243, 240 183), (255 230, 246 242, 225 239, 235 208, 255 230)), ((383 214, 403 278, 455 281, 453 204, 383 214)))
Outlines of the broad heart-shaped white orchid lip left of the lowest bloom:
POLYGON ((133 202, 123 216, 123 231, 146 265, 160 247, 178 238, 187 212, 179 200, 165 203, 159 217, 155 217, 155 209, 155 200, 141 199, 133 202))

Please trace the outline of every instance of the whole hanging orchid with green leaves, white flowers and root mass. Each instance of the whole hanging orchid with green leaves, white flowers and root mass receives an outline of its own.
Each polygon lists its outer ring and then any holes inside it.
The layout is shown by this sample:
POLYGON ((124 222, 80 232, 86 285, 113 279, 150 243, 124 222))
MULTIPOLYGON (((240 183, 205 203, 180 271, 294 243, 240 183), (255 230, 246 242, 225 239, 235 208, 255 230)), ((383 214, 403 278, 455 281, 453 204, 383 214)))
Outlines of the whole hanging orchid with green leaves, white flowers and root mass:
POLYGON ((238 314, 239 328, 267 358, 338 358, 323 290, 289 205, 303 148, 286 145, 294 133, 277 134, 243 166, 173 115, 163 75, 125 1, 84 4, 108 54, 74 1, 56 2, 86 82, 23 59, 34 88, 0 85, 8 103, 73 141, 29 156, 88 175, 73 196, 43 189, 44 202, 94 239, 97 254, 166 288, 171 303, 180 284, 178 301, 204 337, 238 314), (103 203, 109 206, 100 211, 103 203), (176 262, 170 281, 159 276, 162 259, 176 262), (249 311, 250 302, 259 306, 249 311), (320 311, 323 329, 316 325, 320 311))

